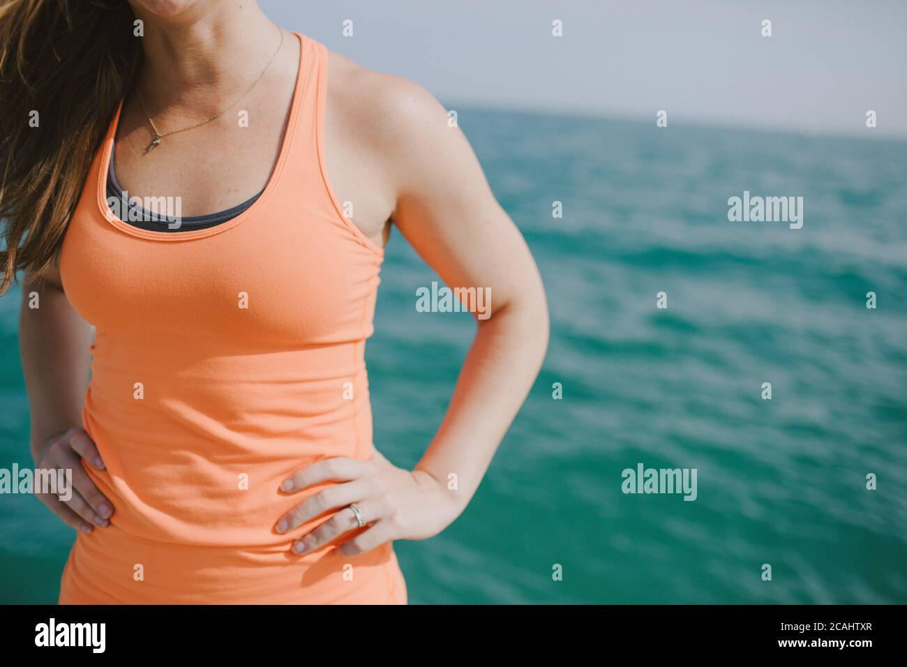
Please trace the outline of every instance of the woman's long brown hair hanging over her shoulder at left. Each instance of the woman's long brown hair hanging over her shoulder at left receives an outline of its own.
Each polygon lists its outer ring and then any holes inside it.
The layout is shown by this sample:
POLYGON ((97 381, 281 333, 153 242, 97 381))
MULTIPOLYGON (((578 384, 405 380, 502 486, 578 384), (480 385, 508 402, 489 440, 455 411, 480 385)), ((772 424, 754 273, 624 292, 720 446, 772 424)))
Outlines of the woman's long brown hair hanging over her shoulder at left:
POLYGON ((0 0, 0 294, 56 260, 141 67, 126 0, 0 0))

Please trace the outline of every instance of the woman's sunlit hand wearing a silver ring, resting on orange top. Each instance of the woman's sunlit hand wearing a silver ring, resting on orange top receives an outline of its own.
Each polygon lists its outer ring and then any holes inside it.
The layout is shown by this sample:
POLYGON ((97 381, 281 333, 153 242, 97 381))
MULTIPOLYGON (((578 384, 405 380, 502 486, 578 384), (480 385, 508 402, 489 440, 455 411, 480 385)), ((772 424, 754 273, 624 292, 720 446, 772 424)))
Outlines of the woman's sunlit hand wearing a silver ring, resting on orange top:
POLYGON ((297 539, 294 554, 306 554, 359 527, 355 503, 369 527, 340 546, 344 555, 364 554, 391 540, 424 540, 437 535, 459 515, 454 496, 424 470, 405 470, 377 450, 367 461, 325 458, 297 471, 280 489, 299 493, 323 482, 340 482, 310 495, 278 521, 278 533, 287 533, 318 515, 339 510, 327 522, 297 539))

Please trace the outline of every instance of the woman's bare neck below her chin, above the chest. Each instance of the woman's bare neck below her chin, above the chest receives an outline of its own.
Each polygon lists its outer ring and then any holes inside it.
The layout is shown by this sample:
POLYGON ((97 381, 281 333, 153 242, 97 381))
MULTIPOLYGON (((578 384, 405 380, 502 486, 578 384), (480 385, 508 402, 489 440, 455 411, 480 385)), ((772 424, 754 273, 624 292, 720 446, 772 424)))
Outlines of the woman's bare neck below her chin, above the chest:
POLYGON ((174 17, 133 10, 144 24, 139 87, 158 108, 180 104, 204 112, 233 102, 280 39, 278 26, 248 0, 219 0, 174 17))

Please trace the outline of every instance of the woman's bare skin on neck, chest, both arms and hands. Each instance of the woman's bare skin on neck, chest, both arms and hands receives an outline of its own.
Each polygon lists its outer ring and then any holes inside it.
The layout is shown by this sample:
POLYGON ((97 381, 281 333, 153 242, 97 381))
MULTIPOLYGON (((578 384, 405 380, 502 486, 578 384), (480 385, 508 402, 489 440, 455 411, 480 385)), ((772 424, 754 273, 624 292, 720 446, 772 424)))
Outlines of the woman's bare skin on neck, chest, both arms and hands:
MULTIPOLYGON (((218 113, 274 61, 241 103, 255 121, 242 132, 235 130, 233 110, 147 152, 148 123, 129 95, 116 144, 123 188, 139 197, 179 194, 184 215, 249 199, 268 181, 277 157, 297 73, 297 39, 284 32, 277 51, 279 28, 254 2, 135 0, 132 6, 144 23, 138 87, 163 131, 218 113)), ((367 461, 326 458, 279 489, 297 495, 336 483, 276 516, 274 530, 292 535, 297 554, 336 541, 342 553, 355 555, 390 540, 436 535, 463 512, 541 366, 548 311, 522 236, 494 199, 465 135, 424 89, 330 54, 325 151, 337 198, 356 202, 354 221, 370 240, 384 245, 394 226, 448 285, 490 288, 492 295, 492 316, 476 319, 444 420, 414 470, 377 453, 367 461), (456 490, 448 488, 452 473, 456 490), (349 539, 345 535, 357 529, 351 503, 367 527, 349 539), (294 533, 331 512, 307 535, 294 533)), ((115 508, 78 465, 81 458, 103 468, 78 426, 92 329, 70 306, 58 270, 26 280, 24 299, 31 289, 43 290, 40 313, 21 319, 33 454, 41 467, 74 473, 68 503, 53 495, 41 499, 73 528, 103 529, 115 508)))

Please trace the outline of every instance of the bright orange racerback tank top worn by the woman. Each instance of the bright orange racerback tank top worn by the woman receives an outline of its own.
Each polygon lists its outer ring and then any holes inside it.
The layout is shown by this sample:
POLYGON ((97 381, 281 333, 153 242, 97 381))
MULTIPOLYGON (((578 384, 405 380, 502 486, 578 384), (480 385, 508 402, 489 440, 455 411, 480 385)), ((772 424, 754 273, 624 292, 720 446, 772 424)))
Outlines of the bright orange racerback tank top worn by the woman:
MULTIPOLYGON (((96 328, 83 427, 115 507, 79 533, 61 603, 404 603, 392 544, 292 554, 280 483, 374 451, 365 365, 383 250, 327 181, 327 49, 297 34, 278 161, 258 201, 197 231, 116 218, 105 183, 117 111, 63 240, 63 289, 96 328)), ((122 103, 121 103, 122 109, 122 103)))

